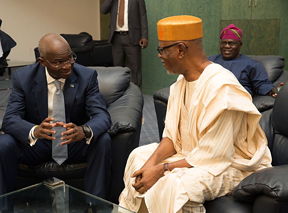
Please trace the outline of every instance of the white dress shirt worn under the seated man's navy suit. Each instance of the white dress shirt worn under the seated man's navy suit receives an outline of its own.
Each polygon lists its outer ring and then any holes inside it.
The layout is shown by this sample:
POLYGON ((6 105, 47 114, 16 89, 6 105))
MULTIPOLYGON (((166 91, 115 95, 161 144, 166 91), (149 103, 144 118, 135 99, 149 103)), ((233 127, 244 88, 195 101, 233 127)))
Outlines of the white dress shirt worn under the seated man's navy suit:
MULTIPOLYGON (((47 79, 47 93, 48 93, 48 117, 49 118, 52 118, 53 117, 53 96, 54 96, 54 93, 56 91, 56 86, 55 84, 53 83, 53 81, 55 81, 56 79, 52 78, 49 74, 48 74, 48 71, 47 71, 47 68, 45 67, 46 69, 46 79, 47 79)), ((64 78, 60 78, 58 79, 58 81, 61 82, 61 89, 63 91, 63 88, 64 88, 64 85, 65 85, 65 80, 64 78)), ((34 129, 36 128, 35 127, 32 127, 32 129, 30 130, 30 133, 29 133, 29 137, 28 137, 28 143, 30 144, 30 146, 33 146, 37 139, 33 138, 34 137, 34 129)), ((90 128, 90 127, 89 127, 90 128)), ((91 128, 90 128, 91 129, 91 128)), ((64 129, 63 129, 64 131, 64 129)), ((91 137, 86 141, 86 144, 90 144, 90 141, 93 137, 93 131, 91 129, 91 132, 92 132, 92 135, 91 137)), ((64 141, 63 141, 64 142, 64 141)))

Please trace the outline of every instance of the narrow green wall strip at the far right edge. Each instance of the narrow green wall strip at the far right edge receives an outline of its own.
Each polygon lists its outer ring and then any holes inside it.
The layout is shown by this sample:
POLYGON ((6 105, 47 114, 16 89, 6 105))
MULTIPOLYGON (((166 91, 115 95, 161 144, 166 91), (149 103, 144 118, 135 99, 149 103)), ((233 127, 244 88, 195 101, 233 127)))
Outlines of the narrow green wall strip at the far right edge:
POLYGON ((279 55, 285 57, 285 70, 288 70, 288 1, 282 0, 280 39, 279 39, 279 55))

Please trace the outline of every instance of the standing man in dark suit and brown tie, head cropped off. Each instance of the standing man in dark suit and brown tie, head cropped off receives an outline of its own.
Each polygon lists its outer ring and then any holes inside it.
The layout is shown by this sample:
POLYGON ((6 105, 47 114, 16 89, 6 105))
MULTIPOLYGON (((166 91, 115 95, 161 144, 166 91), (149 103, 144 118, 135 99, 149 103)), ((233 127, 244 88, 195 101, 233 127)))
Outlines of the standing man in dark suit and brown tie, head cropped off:
POLYGON ((100 10, 110 12, 108 42, 112 44, 114 66, 125 67, 127 57, 132 82, 142 90, 141 47, 148 45, 145 1, 105 0, 100 10))

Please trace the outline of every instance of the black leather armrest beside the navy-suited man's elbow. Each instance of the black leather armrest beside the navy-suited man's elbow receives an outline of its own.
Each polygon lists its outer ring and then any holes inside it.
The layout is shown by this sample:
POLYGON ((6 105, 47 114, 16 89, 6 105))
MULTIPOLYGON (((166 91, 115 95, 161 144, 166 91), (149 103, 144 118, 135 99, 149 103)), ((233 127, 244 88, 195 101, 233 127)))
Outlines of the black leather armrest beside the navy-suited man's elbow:
POLYGON ((110 136, 118 132, 136 131, 141 122, 143 105, 141 90, 130 83, 124 94, 107 108, 112 120, 112 126, 108 130, 110 136))

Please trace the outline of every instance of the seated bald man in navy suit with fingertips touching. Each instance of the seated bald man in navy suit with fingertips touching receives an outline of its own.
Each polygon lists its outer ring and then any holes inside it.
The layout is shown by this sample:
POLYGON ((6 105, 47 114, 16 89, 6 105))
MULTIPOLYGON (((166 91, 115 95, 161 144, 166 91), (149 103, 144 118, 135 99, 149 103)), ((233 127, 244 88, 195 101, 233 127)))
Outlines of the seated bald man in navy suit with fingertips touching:
POLYGON ((5 134, 0 136, 0 195, 15 190, 19 163, 36 166, 52 160, 54 127, 63 127, 59 143, 67 144, 65 162, 87 161, 85 191, 105 198, 111 118, 98 88, 97 72, 74 63, 76 56, 58 34, 44 35, 38 47, 39 62, 13 73, 2 123, 5 134), (53 122, 52 117, 55 80, 61 82, 64 95, 63 122, 53 122))

